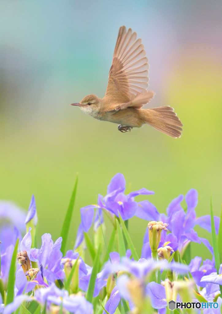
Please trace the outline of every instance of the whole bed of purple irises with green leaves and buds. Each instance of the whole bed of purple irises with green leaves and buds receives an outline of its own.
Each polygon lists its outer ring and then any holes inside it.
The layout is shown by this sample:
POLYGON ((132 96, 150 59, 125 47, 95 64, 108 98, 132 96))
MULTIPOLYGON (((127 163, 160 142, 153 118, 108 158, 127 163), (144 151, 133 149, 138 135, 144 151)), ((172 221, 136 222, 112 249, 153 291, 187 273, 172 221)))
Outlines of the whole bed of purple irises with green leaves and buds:
MULTIPOLYGON (((218 237, 222 234, 219 217, 213 216, 212 210, 211 215, 196 216, 198 193, 194 189, 185 196, 186 210, 181 207, 184 196, 180 195, 169 204, 166 214, 160 214, 148 200, 134 200, 138 195, 154 192, 142 188, 126 195, 125 189, 124 176, 118 173, 111 179, 105 197, 99 195, 97 204, 80 209, 75 246, 68 251, 62 241, 66 243, 69 224, 63 228, 63 239, 59 237, 53 242, 46 233, 37 248, 34 196, 26 217, 15 205, 0 202, 0 313, 219 314, 222 303, 221 252, 216 240, 216 234, 219 232, 218 237), (113 225, 108 242, 104 236, 104 214, 113 225), (128 232, 128 221, 133 216, 147 220, 148 224, 141 257, 128 232), (212 233, 213 247, 198 236, 195 225, 212 233), (25 226, 26 234, 22 236, 25 226), (88 233, 91 226, 92 237, 88 233), (202 263, 197 256, 187 263, 190 242, 202 242, 212 260, 202 263), (84 262, 86 250, 92 266, 84 262), (199 302, 205 306, 171 311, 170 301, 199 302), (217 306, 207 306, 213 303, 217 306)), ((70 216, 66 219, 70 220, 70 216)))

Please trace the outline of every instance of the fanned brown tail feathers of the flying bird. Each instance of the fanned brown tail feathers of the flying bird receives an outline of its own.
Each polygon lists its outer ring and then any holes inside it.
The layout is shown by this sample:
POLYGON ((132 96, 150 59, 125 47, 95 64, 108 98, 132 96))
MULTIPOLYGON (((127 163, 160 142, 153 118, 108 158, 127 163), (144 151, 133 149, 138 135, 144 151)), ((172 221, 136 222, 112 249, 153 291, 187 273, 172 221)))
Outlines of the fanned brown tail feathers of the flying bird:
POLYGON ((143 111, 143 120, 155 129, 173 138, 181 137, 181 131, 183 131, 181 127, 183 125, 172 107, 162 106, 150 109, 140 109, 140 111, 143 111))

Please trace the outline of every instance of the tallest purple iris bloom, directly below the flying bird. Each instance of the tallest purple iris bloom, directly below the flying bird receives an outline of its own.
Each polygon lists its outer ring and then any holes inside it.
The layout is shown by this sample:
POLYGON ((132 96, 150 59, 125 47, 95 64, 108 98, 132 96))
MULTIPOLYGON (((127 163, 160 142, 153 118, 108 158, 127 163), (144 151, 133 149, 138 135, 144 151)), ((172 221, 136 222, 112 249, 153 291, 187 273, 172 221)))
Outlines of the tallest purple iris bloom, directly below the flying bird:
POLYGON ((119 217, 120 213, 124 220, 130 219, 134 215, 146 220, 158 220, 160 214, 153 204, 149 201, 139 203, 134 201, 135 196, 154 194, 153 191, 142 188, 125 195, 125 189, 126 181, 124 176, 117 173, 107 187, 106 196, 103 198, 99 195, 97 205, 89 205, 80 209, 82 226, 85 232, 88 232, 92 225, 95 208, 100 209, 100 213, 102 213, 102 209, 108 211, 111 217, 113 215, 119 217))

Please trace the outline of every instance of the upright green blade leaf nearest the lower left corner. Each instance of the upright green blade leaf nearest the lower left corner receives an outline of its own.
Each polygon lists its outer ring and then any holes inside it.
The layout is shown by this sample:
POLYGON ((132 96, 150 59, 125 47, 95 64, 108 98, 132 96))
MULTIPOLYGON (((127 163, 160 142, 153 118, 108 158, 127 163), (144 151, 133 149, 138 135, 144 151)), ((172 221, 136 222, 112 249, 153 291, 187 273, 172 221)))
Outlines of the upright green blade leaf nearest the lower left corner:
POLYGON ((15 243, 14 251, 12 254, 12 260, 11 260, 11 264, 9 268, 6 305, 8 305, 9 303, 12 303, 14 300, 15 270, 16 270, 18 246, 19 246, 19 238, 17 239, 15 243))

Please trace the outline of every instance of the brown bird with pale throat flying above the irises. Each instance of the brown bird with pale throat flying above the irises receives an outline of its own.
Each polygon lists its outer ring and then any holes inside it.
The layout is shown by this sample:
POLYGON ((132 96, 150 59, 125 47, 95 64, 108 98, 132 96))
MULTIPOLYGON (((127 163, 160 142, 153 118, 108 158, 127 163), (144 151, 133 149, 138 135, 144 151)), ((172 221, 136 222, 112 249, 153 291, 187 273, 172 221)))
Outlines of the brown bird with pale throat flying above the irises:
POLYGON ((180 138, 183 124, 171 106, 142 108, 155 95, 148 90, 148 74, 148 58, 142 40, 137 39, 137 33, 131 28, 121 26, 105 96, 99 98, 90 94, 71 105, 79 106, 98 120, 117 123, 122 133, 147 123, 172 138, 180 138))

